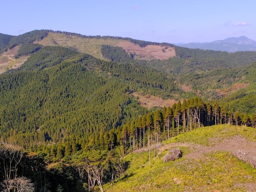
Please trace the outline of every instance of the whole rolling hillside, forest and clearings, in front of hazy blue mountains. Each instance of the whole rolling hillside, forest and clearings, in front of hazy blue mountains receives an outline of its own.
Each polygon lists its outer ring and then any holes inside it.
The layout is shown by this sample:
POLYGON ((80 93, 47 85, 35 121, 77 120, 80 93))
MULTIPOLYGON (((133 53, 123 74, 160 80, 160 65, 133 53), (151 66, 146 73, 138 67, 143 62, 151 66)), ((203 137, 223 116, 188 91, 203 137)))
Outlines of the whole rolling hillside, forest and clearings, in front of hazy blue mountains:
POLYGON ((256 52, 50 30, 0 34, 0 48, 0 172, 38 192, 255 187, 233 152, 256 155, 256 52))

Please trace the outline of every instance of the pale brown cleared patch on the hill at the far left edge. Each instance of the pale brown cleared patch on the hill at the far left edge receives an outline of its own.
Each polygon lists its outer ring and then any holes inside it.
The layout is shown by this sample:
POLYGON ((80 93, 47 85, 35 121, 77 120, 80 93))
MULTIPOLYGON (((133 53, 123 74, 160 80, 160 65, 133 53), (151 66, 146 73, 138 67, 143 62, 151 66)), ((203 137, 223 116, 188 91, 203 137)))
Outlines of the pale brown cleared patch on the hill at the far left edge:
POLYGON ((17 54, 19 48, 20 46, 15 46, 0 55, 0 74, 8 69, 18 68, 27 60, 27 56, 15 59, 14 56, 17 54))

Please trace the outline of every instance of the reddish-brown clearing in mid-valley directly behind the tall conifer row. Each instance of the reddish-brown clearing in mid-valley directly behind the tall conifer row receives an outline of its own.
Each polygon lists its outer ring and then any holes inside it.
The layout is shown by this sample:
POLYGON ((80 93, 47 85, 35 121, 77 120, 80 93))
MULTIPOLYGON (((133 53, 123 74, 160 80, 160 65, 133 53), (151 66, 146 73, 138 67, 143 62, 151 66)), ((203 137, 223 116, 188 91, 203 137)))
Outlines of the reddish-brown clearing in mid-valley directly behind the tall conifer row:
POLYGON ((146 107, 147 109, 151 109, 155 106, 172 107, 172 105, 176 103, 174 99, 163 100, 161 97, 156 97, 153 95, 143 95, 139 92, 133 92, 131 95, 138 100, 141 106, 146 107))

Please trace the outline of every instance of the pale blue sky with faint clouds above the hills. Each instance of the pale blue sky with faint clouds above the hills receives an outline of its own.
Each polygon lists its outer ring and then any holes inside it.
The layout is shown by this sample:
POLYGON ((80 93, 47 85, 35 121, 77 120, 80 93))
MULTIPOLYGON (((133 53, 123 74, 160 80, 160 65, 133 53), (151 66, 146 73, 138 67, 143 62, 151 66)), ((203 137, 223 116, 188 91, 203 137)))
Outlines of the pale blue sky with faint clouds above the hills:
POLYGON ((153 42, 256 41, 255 0, 1 1, 0 33, 50 29, 153 42))

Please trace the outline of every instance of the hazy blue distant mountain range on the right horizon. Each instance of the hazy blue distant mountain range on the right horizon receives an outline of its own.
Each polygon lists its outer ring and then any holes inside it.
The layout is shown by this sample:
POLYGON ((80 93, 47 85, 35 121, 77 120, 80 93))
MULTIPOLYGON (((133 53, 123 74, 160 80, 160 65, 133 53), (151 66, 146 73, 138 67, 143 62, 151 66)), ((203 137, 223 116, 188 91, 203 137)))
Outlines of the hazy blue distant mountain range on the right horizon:
POLYGON ((191 49, 209 49, 209 50, 220 50, 227 52, 237 51, 256 51, 256 41, 249 39, 245 36, 241 37, 230 37, 224 40, 217 40, 208 43, 177 43, 177 46, 187 47, 191 49))

